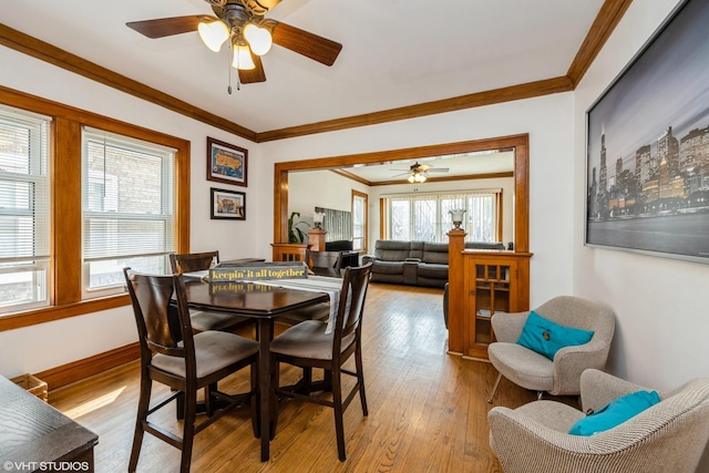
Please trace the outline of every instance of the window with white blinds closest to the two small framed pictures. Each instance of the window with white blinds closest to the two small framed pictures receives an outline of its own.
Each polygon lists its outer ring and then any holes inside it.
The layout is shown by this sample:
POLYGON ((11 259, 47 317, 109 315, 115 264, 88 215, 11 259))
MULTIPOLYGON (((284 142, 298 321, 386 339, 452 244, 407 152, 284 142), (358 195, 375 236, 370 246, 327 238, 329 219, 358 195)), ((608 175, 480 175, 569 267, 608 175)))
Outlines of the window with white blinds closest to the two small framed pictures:
POLYGON ((83 295, 123 291, 123 268, 166 273, 176 250, 175 150, 96 130, 82 136, 83 295))

